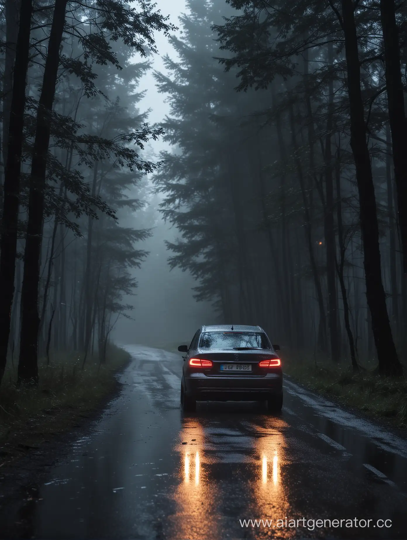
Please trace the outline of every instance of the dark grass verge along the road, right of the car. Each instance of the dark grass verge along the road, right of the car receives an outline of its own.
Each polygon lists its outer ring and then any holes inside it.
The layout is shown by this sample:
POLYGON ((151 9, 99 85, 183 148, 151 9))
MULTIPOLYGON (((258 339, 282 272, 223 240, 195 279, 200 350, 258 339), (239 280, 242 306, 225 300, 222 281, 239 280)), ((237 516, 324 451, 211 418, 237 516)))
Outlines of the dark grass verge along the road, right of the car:
POLYGON ((284 373, 305 387, 392 426, 407 427, 405 376, 381 377, 373 373, 376 368, 373 365, 362 366, 359 373, 353 373, 350 362, 335 365, 296 350, 283 350, 281 357, 284 373))

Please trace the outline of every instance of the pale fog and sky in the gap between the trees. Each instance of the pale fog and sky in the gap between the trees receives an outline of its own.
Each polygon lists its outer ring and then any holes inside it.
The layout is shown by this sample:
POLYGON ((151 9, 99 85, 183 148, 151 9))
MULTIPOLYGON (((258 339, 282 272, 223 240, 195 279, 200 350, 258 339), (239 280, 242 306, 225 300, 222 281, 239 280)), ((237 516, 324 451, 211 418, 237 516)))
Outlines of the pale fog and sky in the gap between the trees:
MULTIPOLYGON (((184 0, 157 0, 156 4, 175 25, 179 24, 179 15, 187 11, 184 0)), ((175 34, 180 35, 179 31, 175 34)), ((177 55, 165 36, 157 33, 155 38, 159 53, 152 57, 152 69, 165 72, 162 56, 169 54, 176 60, 177 55)), ((135 61, 138 59, 135 58, 135 61)), ((150 110, 149 122, 162 122, 170 108, 157 91, 152 70, 140 80, 139 87, 146 91, 145 97, 139 102, 140 110, 150 110)), ((162 139, 152 141, 149 146, 155 156, 161 150, 171 149, 162 139)), ((150 188, 152 190, 151 184, 150 188)), ((143 248, 150 255, 142 267, 134 272, 138 282, 136 296, 126 298, 126 303, 134 305, 134 309, 128 312, 132 320, 122 316, 112 331, 112 338, 118 343, 164 346, 177 340, 181 340, 180 343, 189 342, 199 326, 217 321, 209 302, 196 302, 193 298, 192 287, 196 284, 191 274, 179 268, 170 271, 167 262, 169 253, 164 240, 174 240, 177 231, 170 224, 165 224, 159 212, 159 200, 152 194, 147 199, 155 222, 154 236, 144 242, 143 248)))

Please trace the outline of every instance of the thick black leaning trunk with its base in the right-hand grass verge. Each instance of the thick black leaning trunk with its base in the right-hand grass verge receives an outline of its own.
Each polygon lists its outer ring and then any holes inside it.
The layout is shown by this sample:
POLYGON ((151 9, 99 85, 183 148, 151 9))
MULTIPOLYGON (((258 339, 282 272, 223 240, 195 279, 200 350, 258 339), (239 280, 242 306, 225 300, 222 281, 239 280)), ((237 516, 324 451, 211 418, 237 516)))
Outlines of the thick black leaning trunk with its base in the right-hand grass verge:
POLYGON ((356 181, 359 191, 366 298, 372 318, 372 332, 379 361, 379 373, 383 375, 402 375, 403 367, 398 360, 391 334, 382 281, 375 186, 373 185, 370 154, 366 141, 366 124, 361 91, 361 65, 358 55, 358 38, 352 0, 342 0, 342 15, 348 71, 351 148, 355 158, 356 181))

